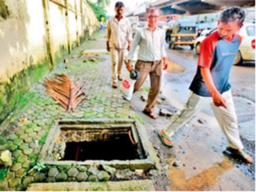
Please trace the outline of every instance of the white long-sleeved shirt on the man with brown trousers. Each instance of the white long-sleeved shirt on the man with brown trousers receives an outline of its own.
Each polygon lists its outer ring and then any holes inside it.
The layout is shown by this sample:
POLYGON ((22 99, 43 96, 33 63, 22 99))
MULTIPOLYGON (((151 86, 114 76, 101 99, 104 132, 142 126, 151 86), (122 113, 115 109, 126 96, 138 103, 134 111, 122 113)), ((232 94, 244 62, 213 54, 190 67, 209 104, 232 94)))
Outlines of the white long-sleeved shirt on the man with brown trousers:
POLYGON ((155 62, 166 57, 165 32, 159 27, 154 31, 149 30, 148 27, 138 30, 132 40, 132 46, 126 59, 133 59, 135 49, 138 45, 138 60, 142 60, 144 62, 155 62))

